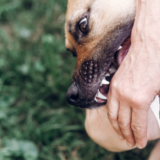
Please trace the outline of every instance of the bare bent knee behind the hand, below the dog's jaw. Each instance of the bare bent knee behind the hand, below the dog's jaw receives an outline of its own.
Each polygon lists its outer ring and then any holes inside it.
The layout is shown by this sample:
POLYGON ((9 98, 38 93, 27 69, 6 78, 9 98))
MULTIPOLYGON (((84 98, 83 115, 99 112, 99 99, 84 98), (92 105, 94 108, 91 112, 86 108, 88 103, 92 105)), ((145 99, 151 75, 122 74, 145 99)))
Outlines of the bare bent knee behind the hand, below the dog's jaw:
MULTIPOLYGON (((148 111, 147 121, 147 141, 159 138, 160 129, 151 109, 149 109, 148 111)), ((105 106, 99 109, 86 111, 85 128, 88 135, 94 142, 109 151, 122 152, 136 148, 135 146, 129 147, 126 140, 119 138, 118 134, 115 132, 108 119, 107 108, 105 106)), ((154 151, 151 157, 155 157, 155 155, 157 154, 156 151, 154 151)))

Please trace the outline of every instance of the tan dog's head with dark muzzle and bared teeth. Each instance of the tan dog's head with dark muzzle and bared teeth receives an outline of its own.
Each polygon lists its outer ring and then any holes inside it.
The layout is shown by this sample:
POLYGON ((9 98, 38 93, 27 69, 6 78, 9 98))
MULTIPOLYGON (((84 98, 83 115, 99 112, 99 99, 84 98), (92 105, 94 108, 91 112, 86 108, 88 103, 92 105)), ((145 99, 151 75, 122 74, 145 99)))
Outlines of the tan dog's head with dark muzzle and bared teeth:
POLYGON ((117 61, 130 45, 126 39, 134 17, 135 0, 68 0, 65 43, 77 57, 67 92, 70 104, 92 108, 107 102, 117 61))

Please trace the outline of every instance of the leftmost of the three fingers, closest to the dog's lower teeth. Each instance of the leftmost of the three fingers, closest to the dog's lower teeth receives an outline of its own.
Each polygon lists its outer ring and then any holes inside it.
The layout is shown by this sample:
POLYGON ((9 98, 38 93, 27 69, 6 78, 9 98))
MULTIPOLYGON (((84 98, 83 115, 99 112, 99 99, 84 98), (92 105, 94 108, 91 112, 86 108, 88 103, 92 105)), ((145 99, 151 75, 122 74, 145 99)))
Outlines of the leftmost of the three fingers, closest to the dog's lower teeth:
POLYGON ((110 93, 108 94, 107 110, 108 110, 108 118, 110 120, 112 127, 119 135, 119 138, 124 139, 124 136, 118 125, 119 102, 114 98, 114 96, 110 96, 110 93))

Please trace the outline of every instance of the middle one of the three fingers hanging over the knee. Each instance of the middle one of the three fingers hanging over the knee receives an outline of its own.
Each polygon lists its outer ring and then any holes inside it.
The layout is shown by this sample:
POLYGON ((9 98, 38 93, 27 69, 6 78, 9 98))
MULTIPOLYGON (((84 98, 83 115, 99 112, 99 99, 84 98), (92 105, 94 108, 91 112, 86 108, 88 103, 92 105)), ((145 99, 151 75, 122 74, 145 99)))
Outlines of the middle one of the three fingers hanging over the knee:
POLYGON ((132 109, 126 103, 120 102, 118 123, 129 147, 135 146, 134 135, 131 129, 132 109))

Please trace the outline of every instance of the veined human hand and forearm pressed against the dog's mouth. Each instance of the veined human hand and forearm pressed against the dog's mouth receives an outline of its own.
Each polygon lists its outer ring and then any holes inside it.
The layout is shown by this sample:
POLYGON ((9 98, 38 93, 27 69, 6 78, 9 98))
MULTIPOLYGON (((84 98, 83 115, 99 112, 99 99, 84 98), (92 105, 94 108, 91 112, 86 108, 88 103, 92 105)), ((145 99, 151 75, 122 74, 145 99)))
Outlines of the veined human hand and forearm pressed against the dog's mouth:
POLYGON ((108 118, 130 148, 146 146, 149 106, 160 91, 159 6, 159 0, 136 0, 132 45, 110 85, 108 118))

